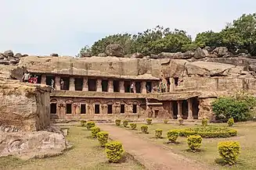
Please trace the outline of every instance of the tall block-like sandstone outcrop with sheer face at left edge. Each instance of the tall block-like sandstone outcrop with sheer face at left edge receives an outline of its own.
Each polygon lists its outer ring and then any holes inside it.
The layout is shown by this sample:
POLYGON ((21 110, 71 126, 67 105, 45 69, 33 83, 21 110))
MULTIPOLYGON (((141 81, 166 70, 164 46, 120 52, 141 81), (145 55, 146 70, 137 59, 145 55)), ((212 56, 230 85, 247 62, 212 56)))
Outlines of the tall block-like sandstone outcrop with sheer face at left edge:
POLYGON ((0 132, 29 132, 50 124, 49 87, 0 80, 0 132))

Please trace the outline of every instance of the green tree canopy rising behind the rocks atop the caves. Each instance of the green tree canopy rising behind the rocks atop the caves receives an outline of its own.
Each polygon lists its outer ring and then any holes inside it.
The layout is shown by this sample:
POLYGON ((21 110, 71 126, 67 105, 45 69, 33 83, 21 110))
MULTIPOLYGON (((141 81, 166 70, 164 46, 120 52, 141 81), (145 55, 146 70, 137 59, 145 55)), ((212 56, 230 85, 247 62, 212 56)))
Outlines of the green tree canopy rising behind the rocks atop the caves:
POLYGON ((88 52, 91 55, 98 55, 105 52, 109 44, 120 44, 124 48, 124 55, 135 52, 157 55, 160 52, 189 51, 206 46, 227 47, 230 51, 256 55, 256 13, 243 14, 219 32, 207 30, 199 33, 194 41, 186 30, 171 31, 170 28, 157 26, 138 34, 114 34, 103 37, 92 44, 92 47, 81 48, 80 54, 88 52))

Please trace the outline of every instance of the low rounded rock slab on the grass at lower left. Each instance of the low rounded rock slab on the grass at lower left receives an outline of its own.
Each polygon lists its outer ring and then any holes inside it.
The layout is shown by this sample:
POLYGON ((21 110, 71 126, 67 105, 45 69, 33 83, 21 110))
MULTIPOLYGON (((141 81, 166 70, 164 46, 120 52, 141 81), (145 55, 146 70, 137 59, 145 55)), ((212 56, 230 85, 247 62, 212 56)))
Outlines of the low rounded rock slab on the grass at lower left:
POLYGON ((62 154, 68 147, 61 133, 0 133, 0 157, 45 158, 62 154))

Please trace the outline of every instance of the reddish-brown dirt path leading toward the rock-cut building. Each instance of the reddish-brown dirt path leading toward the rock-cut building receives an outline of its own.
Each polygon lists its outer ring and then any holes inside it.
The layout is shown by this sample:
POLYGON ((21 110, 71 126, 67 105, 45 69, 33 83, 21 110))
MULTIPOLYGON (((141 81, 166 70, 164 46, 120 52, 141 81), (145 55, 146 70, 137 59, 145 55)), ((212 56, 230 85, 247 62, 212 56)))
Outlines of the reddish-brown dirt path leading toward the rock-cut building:
POLYGON ((182 155, 172 153, 170 150, 160 147, 156 143, 142 140, 139 136, 135 136, 128 130, 107 124, 98 124, 98 126, 100 129, 110 133, 112 140, 121 141, 124 145, 124 150, 132 154, 147 169, 210 169, 182 155))

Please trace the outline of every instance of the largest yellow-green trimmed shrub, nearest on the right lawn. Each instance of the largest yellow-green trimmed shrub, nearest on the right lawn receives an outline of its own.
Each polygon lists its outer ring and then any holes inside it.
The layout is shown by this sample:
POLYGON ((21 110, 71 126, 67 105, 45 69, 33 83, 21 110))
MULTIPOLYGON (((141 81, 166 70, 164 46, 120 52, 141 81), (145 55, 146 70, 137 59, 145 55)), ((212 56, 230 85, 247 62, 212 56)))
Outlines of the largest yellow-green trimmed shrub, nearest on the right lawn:
POLYGON ((233 141, 219 142, 218 153, 225 164, 234 165, 240 154, 240 143, 233 141))

